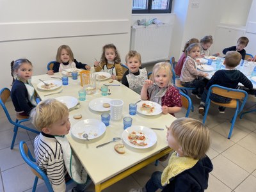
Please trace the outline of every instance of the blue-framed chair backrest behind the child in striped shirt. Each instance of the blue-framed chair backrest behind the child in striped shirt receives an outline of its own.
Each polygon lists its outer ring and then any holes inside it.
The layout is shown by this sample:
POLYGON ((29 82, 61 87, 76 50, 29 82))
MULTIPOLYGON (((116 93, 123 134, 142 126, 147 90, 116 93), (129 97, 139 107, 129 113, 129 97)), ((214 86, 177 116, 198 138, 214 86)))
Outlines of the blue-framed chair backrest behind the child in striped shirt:
POLYGON ((49 182, 48 177, 45 175, 45 173, 37 166, 35 158, 32 156, 28 145, 25 141, 20 141, 20 154, 22 156, 22 159, 29 165, 31 171, 35 174, 36 177, 43 179, 47 189, 49 191, 53 191, 51 183, 49 182))

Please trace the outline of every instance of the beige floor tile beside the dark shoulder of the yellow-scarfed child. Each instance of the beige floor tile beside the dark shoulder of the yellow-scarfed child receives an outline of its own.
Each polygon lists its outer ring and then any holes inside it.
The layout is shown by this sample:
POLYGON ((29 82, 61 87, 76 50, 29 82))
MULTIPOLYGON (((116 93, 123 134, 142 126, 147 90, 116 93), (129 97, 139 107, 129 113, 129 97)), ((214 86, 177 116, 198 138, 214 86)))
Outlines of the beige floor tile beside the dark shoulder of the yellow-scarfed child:
POLYGON ((235 189, 250 173, 246 172, 237 164, 220 155, 212 159, 213 170, 212 175, 221 182, 225 183, 229 188, 235 189))

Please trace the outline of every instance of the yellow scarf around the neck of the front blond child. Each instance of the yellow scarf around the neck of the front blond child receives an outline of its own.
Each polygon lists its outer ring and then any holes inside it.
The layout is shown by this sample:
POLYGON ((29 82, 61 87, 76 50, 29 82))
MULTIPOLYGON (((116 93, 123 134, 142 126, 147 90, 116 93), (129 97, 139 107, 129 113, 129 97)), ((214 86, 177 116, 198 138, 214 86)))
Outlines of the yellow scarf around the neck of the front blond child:
POLYGON ((169 184, 169 179, 179 175, 180 173, 192 168, 199 161, 199 159, 193 159, 191 157, 179 157, 177 152, 173 152, 169 159, 169 164, 164 168, 161 176, 161 184, 165 186, 169 184))

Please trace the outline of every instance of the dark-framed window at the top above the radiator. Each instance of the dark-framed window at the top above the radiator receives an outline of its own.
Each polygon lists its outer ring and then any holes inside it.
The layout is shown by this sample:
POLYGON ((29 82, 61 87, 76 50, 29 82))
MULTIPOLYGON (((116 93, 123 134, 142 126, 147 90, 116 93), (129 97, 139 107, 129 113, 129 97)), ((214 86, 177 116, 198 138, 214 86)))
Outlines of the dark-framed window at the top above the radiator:
POLYGON ((132 13, 170 13, 172 0, 132 0, 132 13))

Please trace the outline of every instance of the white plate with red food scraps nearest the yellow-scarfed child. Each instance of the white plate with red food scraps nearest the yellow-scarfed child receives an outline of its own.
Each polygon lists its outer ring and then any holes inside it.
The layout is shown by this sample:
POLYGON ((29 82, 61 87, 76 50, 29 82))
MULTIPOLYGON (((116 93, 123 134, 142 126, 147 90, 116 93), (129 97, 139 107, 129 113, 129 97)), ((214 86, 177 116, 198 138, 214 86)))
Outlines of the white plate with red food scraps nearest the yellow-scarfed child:
MULTIPOLYGON (((124 142, 134 148, 148 148, 148 147, 152 147, 153 145, 155 145, 156 141, 157 141, 157 136, 156 133, 154 131, 152 131, 151 129, 149 129, 148 127, 144 127, 144 126, 139 126, 139 125, 134 125, 132 127, 128 127, 127 129, 124 130, 123 134, 122 134, 122 138, 124 140, 124 142), (136 133, 138 132, 142 132, 143 135, 145 136, 145 141, 143 141, 144 143, 147 143, 147 145, 145 146, 140 146, 140 145, 134 145, 129 141, 129 134, 135 131, 136 133)), ((137 140, 138 142, 140 142, 140 140, 137 140)))

